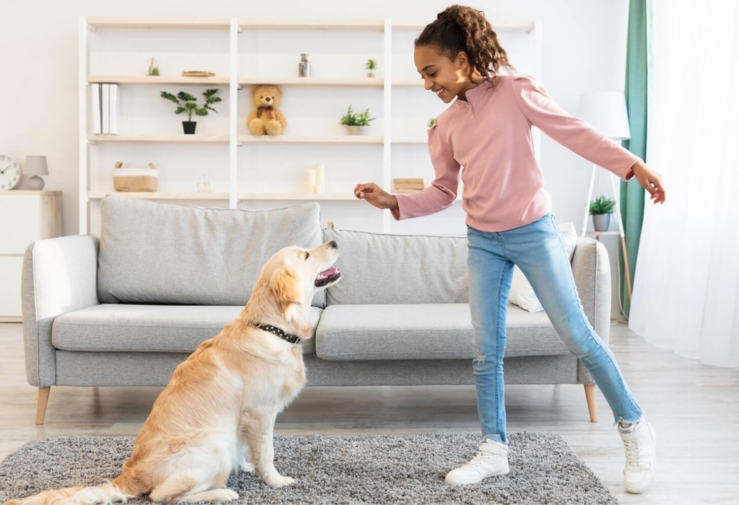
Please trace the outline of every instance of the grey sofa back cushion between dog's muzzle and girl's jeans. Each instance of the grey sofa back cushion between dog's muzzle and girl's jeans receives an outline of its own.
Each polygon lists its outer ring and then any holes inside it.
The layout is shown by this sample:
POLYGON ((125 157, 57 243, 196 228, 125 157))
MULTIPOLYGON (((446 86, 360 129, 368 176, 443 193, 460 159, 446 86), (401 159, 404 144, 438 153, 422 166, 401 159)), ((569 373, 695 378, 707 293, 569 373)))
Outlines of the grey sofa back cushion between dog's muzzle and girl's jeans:
POLYGON ((467 237, 323 229, 342 279, 326 303, 469 303, 467 237))

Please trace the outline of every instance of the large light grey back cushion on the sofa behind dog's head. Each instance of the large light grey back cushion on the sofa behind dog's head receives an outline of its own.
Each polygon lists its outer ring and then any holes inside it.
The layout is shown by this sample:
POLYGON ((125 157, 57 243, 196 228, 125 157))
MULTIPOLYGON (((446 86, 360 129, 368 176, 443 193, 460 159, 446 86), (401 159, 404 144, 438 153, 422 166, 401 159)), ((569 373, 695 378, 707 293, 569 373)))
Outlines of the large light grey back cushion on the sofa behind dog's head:
MULTIPOLYGON (((322 243, 318 202, 272 210, 203 208, 104 196, 101 303, 244 306, 282 247, 322 243)), ((313 306, 325 306, 324 289, 313 306)))

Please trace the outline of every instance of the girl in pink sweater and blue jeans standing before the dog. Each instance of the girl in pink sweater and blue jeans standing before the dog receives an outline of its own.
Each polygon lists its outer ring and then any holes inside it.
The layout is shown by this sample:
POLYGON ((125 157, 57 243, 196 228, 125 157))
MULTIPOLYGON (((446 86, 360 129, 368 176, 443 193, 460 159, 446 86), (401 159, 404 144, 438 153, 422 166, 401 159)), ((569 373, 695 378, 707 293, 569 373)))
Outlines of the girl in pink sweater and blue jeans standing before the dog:
POLYGON ((460 165, 466 211, 469 302, 482 441, 477 455, 446 475, 471 484, 508 473, 503 401, 505 309, 517 264, 570 351, 582 361, 613 410, 626 452, 624 486, 642 492, 655 471, 655 430, 645 421, 608 347, 590 326, 545 179, 534 157, 531 125, 624 181, 636 177, 653 202, 664 203, 661 177, 585 121, 562 110, 544 86, 515 73, 483 13, 452 5, 415 39, 414 61, 426 89, 456 100, 429 131, 436 178, 416 193, 386 193, 358 184, 358 199, 390 209, 398 221, 446 209, 457 196, 460 165), (512 73, 499 75, 500 66, 512 73))

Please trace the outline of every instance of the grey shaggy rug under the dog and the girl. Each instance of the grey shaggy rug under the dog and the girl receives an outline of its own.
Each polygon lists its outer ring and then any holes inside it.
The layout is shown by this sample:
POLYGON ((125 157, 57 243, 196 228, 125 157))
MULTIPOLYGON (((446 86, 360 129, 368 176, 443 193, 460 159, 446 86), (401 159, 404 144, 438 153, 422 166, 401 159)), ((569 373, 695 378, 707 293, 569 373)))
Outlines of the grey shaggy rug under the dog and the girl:
MULTIPOLYGON (((239 504, 618 504, 552 433, 513 433, 507 475, 452 487, 444 476, 477 451, 477 433, 276 436, 275 466, 294 484, 275 489, 232 473, 239 504)), ((0 463, 0 503, 44 489, 101 484, 120 475, 134 437, 58 436, 25 444, 0 463)), ((140 496, 130 504, 151 504, 140 496)), ((203 503, 203 502, 200 502, 203 503)))

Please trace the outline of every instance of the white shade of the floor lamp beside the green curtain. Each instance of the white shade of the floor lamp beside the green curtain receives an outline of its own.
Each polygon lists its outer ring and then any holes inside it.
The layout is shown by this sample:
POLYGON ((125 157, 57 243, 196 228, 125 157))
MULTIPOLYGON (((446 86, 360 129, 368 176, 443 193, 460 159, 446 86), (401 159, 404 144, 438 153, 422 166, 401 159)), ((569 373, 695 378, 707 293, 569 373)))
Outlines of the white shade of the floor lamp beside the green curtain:
POLYGON ((622 92, 588 92, 580 95, 577 115, 606 137, 631 138, 626 98, 622 92))

